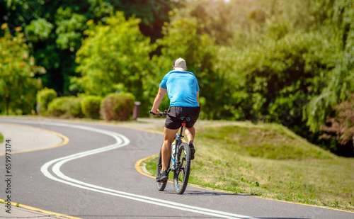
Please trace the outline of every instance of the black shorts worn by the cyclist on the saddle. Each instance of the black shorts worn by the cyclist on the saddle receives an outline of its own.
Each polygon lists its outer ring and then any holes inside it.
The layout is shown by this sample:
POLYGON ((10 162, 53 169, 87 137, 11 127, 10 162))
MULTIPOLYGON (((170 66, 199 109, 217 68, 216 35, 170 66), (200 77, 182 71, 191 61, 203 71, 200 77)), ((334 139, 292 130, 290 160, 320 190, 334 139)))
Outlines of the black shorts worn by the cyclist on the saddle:
POLYGON ((178 129, 181 127, 181 117, 189 117, 190 121, 185 123, 185 127, 192 128, 194 123, 198 120, 200 113, 200 106, 197 107, 183 107, 171 106, 167 111, 165 127, 169 129, 178 129))

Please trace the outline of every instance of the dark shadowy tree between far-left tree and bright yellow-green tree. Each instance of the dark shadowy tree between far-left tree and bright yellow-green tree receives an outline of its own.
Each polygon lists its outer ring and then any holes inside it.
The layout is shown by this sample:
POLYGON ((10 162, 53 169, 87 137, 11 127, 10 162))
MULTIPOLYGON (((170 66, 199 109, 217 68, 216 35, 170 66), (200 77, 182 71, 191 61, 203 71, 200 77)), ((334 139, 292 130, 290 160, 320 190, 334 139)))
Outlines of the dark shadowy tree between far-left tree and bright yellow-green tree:
POLYGON ((69 76, 74 74, 75 52, 88 17, 94 17, 88 1, 6 1, 4 20, 10 30, 21 26, 30 54, 45 67, 42 83, 62 96, 67 94, 69 76), (84 18, 83 18, 84 16, 84 18), (71 24, 74 23, 74 26, 71 24))

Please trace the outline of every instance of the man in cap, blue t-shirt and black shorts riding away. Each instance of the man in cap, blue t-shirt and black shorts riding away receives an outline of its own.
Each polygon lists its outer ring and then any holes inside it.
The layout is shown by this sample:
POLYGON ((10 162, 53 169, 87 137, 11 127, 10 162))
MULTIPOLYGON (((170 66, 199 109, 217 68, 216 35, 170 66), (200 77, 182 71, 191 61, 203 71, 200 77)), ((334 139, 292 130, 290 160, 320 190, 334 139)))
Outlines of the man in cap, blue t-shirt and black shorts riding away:
POLYGON ((187 64, 181 57, 173 61, 172 69, 162 79, 152 106, 153 113, 162 114, 158 108, 165 94, 168 94, 170 107, 167 111, 164 142, 161 147, 162 167, 161 172, 156 176, 156 181, 169 179, 167 163, 171 156, 171 143, 181 127, 180 118, 183 116, 190 118, 190 121, 185 123, 185 136, 188 138, 191 159, 194 159, 195 154, 193 145, 195 128, 193 125, 200 113, 199 85, 195 75, 192 72, 187 72, 187 64))

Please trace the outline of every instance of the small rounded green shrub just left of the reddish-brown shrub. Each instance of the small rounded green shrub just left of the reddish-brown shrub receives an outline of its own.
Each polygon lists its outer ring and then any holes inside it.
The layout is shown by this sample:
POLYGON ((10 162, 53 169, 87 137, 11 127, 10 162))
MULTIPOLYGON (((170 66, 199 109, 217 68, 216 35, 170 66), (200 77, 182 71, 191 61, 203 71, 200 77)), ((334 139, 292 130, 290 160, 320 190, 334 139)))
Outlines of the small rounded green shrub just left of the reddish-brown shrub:
POLYGON ((84 96, 81 101, 81 110, 86 118, 100 118, 101 96, 84 96))

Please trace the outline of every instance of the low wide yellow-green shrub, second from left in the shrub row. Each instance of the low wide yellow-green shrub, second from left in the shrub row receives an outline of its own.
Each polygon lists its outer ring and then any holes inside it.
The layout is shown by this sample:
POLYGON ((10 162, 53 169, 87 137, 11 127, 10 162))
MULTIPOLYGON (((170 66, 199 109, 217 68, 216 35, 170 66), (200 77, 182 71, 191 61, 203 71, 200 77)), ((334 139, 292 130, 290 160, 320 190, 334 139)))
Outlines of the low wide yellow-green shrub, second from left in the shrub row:
POLYGON ((81 99, 76 96, 57 97, 48 105, 48 115, 65 118, 82 118, 81 99))

